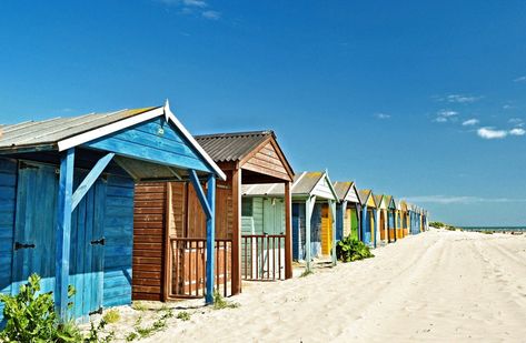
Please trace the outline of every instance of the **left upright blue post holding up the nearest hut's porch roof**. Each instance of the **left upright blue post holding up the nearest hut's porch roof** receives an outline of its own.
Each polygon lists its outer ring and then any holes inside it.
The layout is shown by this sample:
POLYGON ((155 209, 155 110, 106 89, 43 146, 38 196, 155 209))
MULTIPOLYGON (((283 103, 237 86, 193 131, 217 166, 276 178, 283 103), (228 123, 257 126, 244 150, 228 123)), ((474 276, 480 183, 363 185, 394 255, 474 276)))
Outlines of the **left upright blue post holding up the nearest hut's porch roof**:
POLYGON ((61 321, 68 321, 69 254, 71 204, 73 192, 75 148, 60 154, 59 194, 57 201, 57 250, 54 263, 54 306, 61 321))

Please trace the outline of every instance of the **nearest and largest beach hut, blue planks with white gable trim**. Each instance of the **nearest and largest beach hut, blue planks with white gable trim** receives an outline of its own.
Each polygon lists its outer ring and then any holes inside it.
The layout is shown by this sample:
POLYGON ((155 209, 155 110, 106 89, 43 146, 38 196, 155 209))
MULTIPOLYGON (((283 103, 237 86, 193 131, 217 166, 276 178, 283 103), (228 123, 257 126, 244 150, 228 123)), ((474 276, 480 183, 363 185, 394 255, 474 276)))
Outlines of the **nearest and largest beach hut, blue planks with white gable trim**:
MULTIPOLYGON (((16 294, 38 273, 62 319, 131 303, 136 182, 181 178, 214 185, 225 178, 168 102, 2 129, 0 291, 16 294)), ((214 192, 198 192, 202 206, 214 209, 214 192)), ((214 210, 207 211, 207 243, 211 238, 214 210)), ((208 274, 212 256, 210 249, 208 274)))

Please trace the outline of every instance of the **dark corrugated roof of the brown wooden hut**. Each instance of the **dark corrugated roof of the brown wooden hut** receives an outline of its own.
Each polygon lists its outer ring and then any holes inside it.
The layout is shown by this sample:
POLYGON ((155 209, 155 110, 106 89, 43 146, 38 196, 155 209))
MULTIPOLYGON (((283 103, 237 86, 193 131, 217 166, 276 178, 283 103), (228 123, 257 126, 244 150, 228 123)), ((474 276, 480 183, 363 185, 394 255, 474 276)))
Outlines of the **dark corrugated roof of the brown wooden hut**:
POLYGON ((269 137, 274 131, 251 131, 196 135, 198 143, 216 162, 236 162, 242 160, 269 137))

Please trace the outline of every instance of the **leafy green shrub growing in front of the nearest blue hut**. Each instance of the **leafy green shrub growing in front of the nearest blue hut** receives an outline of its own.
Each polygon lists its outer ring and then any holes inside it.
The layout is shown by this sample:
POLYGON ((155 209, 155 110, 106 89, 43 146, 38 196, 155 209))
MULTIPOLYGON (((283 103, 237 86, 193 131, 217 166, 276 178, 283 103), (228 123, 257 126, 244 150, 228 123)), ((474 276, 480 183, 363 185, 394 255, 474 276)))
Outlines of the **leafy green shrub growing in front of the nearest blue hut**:
MULTIPOLYGON (((68 296, 75 290, 69 289, 68 296)), ((6 304, 6 327, 0 332, 2 342, 79 342, 82 340, 72 323, 60 323, 54 312, 52 292, 40 293, 40 276, 32 274, 20 286, 17 295, 0 294, 6 304)), ((70 304, 71 305, 71 304, 70 304)))

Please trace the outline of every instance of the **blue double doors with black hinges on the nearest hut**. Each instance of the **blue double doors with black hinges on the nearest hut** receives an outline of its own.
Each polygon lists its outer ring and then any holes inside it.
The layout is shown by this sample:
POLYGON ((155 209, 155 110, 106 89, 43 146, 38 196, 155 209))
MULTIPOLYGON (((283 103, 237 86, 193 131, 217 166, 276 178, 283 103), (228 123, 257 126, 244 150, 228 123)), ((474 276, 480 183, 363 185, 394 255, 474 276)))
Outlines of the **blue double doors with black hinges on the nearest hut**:
MULTIPOLYGON (((77 185, 79 174, 76 170, 77 185)), ((42 292, 54 291, 57 195, 56 167, 20 162, 12 294, 32 273, 42 278, 42 292)), ((71 300, 75 317, 86 317, 102 306, 105 196, 106 183, 98 180, 72 213, 69 284, 77 291, 71 300)))

